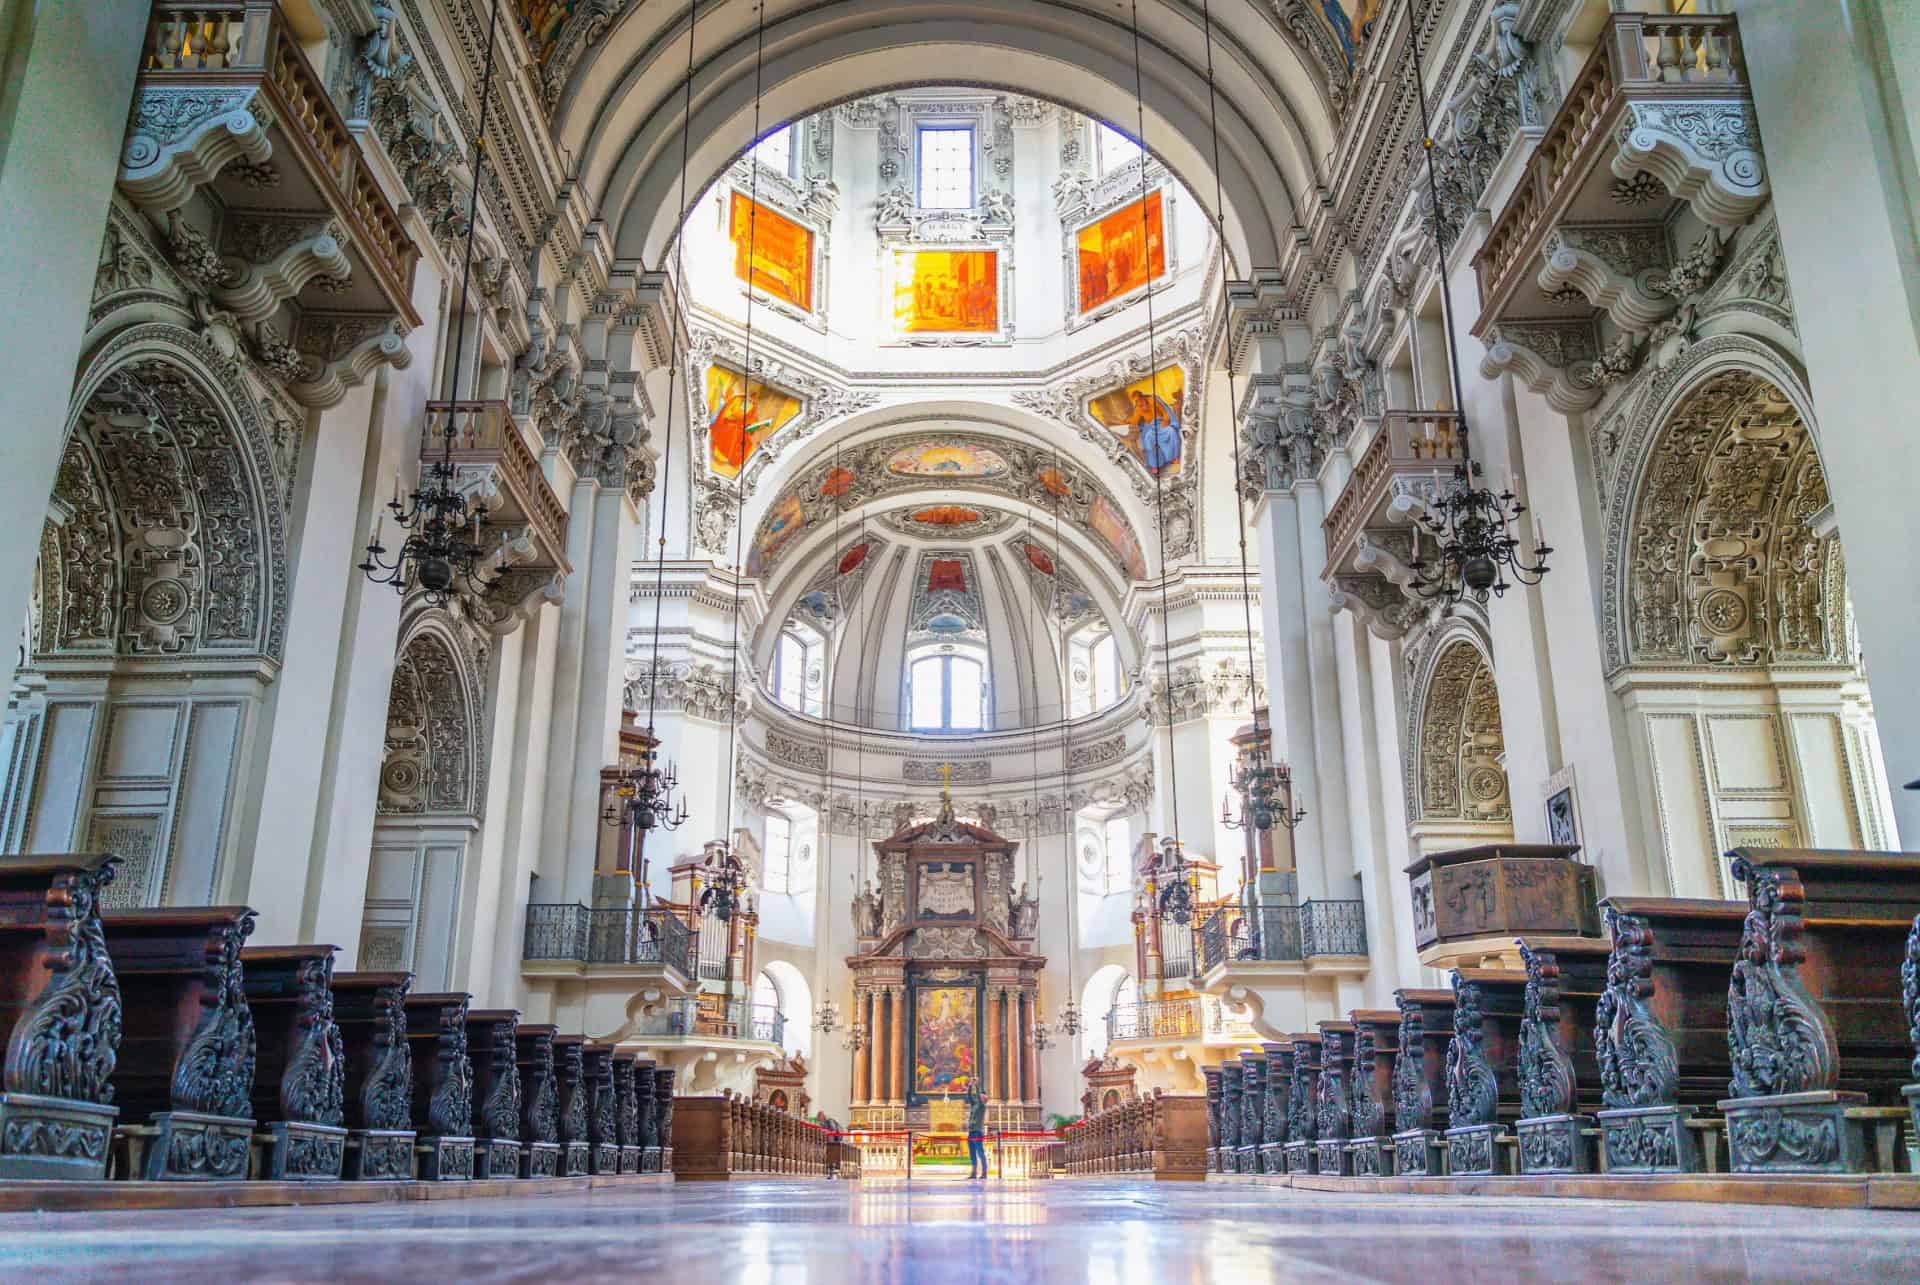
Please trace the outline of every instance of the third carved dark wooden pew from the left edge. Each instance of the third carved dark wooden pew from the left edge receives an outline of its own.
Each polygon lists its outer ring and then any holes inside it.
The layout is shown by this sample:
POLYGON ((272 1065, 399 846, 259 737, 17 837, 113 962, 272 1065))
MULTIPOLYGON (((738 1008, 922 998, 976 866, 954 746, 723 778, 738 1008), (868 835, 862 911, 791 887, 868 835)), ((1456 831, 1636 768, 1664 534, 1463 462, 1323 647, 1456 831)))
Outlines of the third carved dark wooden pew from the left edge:
POLYGON ((253 1010, 253 1118, 273 1143, 265 1177, 338 1179, 346 1164, 346 1045, 334 1024, 332 945, 240 951, 253 1010))

